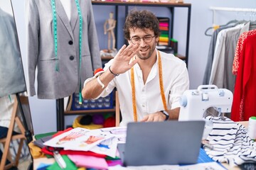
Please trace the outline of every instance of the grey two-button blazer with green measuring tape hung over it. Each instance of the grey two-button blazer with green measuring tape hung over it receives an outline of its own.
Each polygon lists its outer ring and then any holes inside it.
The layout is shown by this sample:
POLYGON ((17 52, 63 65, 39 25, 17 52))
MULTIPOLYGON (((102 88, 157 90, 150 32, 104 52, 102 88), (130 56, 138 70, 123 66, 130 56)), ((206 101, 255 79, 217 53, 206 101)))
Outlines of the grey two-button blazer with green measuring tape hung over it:
POLYGON ((26 1, 26 31, 28 35, 28 94, 36 95, 35 77, 38 69, 38 98, 58 99, 80 91, 80 82, 92 77, 93 70, 102 67, 91 1, 71 0, 70 21, 60 0, 55 0, 58 54, 53 40, 53 11, 50 0, 26 1), (80 62, 80 36, 82 48, 80 62), (55 64, 58 63, 58 71, 55 64))

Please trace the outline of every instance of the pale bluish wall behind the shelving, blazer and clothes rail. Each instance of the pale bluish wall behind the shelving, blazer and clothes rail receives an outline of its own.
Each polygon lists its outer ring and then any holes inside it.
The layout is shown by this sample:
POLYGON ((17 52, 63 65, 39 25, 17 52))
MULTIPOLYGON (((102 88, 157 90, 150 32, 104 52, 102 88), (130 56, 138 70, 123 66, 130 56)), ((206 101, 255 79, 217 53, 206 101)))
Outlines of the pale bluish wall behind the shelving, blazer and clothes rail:
MULTIPOLYGON (((232 8, 256 8, 256 1, 254 0, 185 0, 186 3, 192 4, 191 9, 191 36, 189 46, 189 60, 188 60, 188 72, 191 81, 191 89, 196 89, 203 81, 203 73, 206 67, 206 61, 208 56, 208 46, 210 44, 210 37, 204 35, 205 30, 213 24, 213 12, 209 10, 209 6, 221 6, 232 8)), ((24 26, 24 0, 13 0, 14 13, 17 22, 18 36, 21 44, 21 55, 23 60, 26 61, 26 36, 24 26)), ((153 8, 154 13, 158 16, 168 16, 169 11, 164 8, 153 8)), ((110 11, 114 11, 112 7, 100 7, 94 6, 95 21, 97 23, 98 38, 100 41, 100 47, 107 47, 107 35, 103 33, 103 24, 110 11), (102 15, 102 12, 105 13, 102 15), (103 16, 103 17, 102 17, 103 16)), ((122 8, 119 10, 122 13, 122 8)), ((216 23, 225 24, 235 18, 242 19, 246 17, 243 14, 235 12, 216 12, 216 23)), ((179 41, 178 53, 185 54, 186 40, 186 10, 176 9, 174 19, 174 38, 179 41), (184 30, 185 29, 185 30, 184 30)), ((124 20, 124 16, 120 15, 124 20)), ((122 38, 122 22, 118 23, 118 33, 122 38)), ((119 39, 119 38, 118 38, 119 39)), ((117 48, 122 46, 123 41, 118 41, 117 48)), ((23 62, 26 68, 26 62, 23 62)), ((26 70, 25 70, 26 72, 26 70)), ((39 100, 36 96, 29 98, 31 106, 31 114, 33 120, 34 132, 36 134, 42 132, 51 132, 56 130, 56 108, 54 100, 39 100), (47 122, 47 125, 46 125, 47 122)), ((65 121, 68 124, 73 122, 75 116, 66 116, 65 121)))

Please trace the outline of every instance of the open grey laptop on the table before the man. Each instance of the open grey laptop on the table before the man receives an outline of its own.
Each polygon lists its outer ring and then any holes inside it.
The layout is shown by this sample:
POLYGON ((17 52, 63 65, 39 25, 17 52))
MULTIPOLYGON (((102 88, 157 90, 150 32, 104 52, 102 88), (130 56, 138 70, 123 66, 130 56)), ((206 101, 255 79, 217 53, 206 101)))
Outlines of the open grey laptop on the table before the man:
POLYGON ((117 145, 122 164, 196 164, 204 126, 204 120, 128 123, 126 143, 117 145))

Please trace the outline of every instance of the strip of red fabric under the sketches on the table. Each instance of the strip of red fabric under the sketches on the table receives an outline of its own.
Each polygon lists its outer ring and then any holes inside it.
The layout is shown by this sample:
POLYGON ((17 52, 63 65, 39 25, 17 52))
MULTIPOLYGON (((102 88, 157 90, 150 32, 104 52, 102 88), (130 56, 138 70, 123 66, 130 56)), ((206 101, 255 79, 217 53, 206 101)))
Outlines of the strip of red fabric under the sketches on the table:
MULTIPOLYGON (((50 150, 53 149, 53 147, 50 147, 50 150)), ((50 152, 46 147, 42 148, 42 152, 44 154, 50 154, 53 155, 53 152, 50 152)), ((87 155, 87 156, 93 156, 93 157, 101 157, 105 158, 107 157, 105 154, 96 154, 95 152, 90 152, 90 151, 73 151, 73 150, 63 150, 60 149, 60 154, 82 154, 82 155, 87 155)))

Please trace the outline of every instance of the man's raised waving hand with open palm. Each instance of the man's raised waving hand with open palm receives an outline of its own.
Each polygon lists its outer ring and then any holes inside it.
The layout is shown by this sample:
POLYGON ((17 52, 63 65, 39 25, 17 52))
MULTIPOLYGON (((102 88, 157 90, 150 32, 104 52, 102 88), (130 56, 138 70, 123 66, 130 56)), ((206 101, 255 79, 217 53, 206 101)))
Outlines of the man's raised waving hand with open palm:
POLYGON ((114 57, 111 64, 112 72, 115 74, 122 74, 131 69, 134 64, 138 62, 138 59, 131 61, 132 57, 134 57, 138 51, 139 45, 123 45, 122 48, 117 52, 117 55, 114 57))

